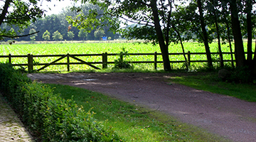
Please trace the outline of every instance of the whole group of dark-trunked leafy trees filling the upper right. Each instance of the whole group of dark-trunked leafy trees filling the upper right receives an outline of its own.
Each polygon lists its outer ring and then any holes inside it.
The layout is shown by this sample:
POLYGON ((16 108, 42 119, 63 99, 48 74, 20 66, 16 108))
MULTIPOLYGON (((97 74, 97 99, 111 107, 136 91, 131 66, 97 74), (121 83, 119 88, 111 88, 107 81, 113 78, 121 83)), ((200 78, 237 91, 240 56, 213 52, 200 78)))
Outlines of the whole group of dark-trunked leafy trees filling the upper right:
MULTIPOLYGON (((99 9, 69 17, 70 23, 90 31, 93 27, 108 25, 125 38, 139 38, 159 44, 164 70, 171 70, 168 48, 171 42, 198 40, 205 45, 209 68, 213 67, 210 47, 218 40, 220 65, 223 67, 221 43, 235 45, 237 67, 249 66, 256 75, 256 55, 252 59, 252 38, 255 37, 254 0, 87 0, 99 9), (106 22, 107 21, 107 22, 106 22), (122 24, 119 24, 122 23, 122 24), (135 23, 133 26, 131 23, 135 23), (122 25, 124 25, 122 27, 122 25), (127 27, 125 27, 127 26, 127 27), (242 38, 247 38, 247 59, 242 38)), ((73 10, 79 12, 80 7, 73 10)))

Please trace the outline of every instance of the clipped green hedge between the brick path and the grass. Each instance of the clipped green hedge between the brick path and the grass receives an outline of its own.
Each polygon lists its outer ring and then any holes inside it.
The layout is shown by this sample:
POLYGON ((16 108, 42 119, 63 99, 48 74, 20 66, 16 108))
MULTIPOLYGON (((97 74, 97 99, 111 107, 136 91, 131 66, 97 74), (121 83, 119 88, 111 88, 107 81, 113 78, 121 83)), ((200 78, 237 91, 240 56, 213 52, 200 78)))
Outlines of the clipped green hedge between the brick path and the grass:
POLYGON ((0 89, 38 141, 122 141, 73 100, 0 63, 0 89))

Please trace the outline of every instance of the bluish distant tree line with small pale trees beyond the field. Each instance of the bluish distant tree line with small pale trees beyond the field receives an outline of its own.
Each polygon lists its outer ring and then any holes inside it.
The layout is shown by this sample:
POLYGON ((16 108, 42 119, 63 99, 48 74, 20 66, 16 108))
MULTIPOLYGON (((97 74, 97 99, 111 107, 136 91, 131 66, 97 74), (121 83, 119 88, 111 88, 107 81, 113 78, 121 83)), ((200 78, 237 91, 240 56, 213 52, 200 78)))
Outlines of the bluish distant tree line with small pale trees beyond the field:
MULTIPOLYGON (((99 10, 98 6, 93 6, 92 4, 85 4, 82 6, 81 11, 87 13, 90 9, 99 10)), ((36 21, 31 22, 31 24, 21 30, 18 26, 9 26, 6 23, 1 25, 2 29, 6 31, 15 31, 21 35, 26 35, 39 31, 36 34, 14 38, 13 40, 26 40, 26 41, 51 41, 51 40, 100 40, 102 36, 107 36, 108 40, 114 40, 119 38, 119 34, 112 33, 109 31, 110 27, 96 27, 95 30, 92 30, 90 33, 84 29, 79 30, 76 27, 70 26, 66 20, 67 16, 76 16, 76 11, 71 11, 70 7, 66 7, 59 14, 52 14, 44 18, 38 18, 36 21)), ((4 40, 10 40, 11 38, 5 38, 4 40)))

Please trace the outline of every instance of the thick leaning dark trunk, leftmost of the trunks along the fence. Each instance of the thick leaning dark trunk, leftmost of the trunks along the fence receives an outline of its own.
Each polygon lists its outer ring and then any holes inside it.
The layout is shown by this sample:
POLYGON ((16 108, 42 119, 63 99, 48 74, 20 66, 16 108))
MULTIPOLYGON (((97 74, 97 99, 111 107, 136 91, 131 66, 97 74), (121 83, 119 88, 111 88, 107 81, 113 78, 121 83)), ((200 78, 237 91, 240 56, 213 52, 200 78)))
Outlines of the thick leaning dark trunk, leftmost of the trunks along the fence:
POLYGON ((156 35, 159 40, 159 46, 162 54, 162 58, 164 61, 164 70, 170 71, 171 70, 171 65, 170 65, 170 60, 169 60, 169 52, 168 52, 168 46, 164 42, 164 36, 163 32, 161 31, 161 26, 160 26, 160 21, 159 21, 159 13, 158 9, 156 7, 156 0, 151 0, 151 8, 152 8, 152 13, 154 17, 154 28, 156 30, 156 35))

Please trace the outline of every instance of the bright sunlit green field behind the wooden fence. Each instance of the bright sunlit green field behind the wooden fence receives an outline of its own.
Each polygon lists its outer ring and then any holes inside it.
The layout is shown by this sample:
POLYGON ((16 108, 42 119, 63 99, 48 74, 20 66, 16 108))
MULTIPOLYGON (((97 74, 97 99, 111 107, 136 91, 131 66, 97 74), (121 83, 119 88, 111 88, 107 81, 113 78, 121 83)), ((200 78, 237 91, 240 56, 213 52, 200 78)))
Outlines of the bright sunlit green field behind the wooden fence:
MULTIPOLYGON (((161 53, 159 45, 151 44, 139 44, 139 43, 41 43, 41 44, 13 44, 13 45, 0 45, 0 55, 28 55, 28 53, 33 55, 65 55, 70 54, 101 54, 101 53, 120 53, 122 48, 128 53, 161 53)), ((203 43, 184 43, 185 52, 190 51, 191 53, 205 53, 205 48, 203 43)), ((218 52, 218 44, 211 43, 210 51, 212 53, 218 52)), ((230 52, 228 45, 222 45, 223 52, 230 52)), ((234 51, 234 49, 233 49, 234 51)), ((169 53, 182 53, 180 44, 169 45, 169 53)), ((224 60, 230 60, 230 55, 223 55, 224 60)), ((33 58, 35 63, 49 63, 53 62, 60 57, 51 58, 33 58)), ((80 56, 78 57, 85 62, 102 62, 102 56, 80 56)), ((114 62, 117 60, 118 56, 108 56, 108 62, 114 62)), ((183 55, 170 55, 171 61, 184 60, 183 55)), ((218 55, 212 55, 213 60, 218 60, 218 55)), ((0 62, 6 62, 8 58, 0 58, 0 62)), ((129 55, 124 58, 127 61, 154 61, 154 55, 129 55)), ((157 56, 157 60, 161 61, 161 55, 157 56)), ((191 55, 191 60, 206 60, 206 55, 191 55)), ((26 64, 27 58, 12 58, 11 62, 13 64, 26 64)), ((66 59, 60 60, 58 62, 66 62, 66 59)), ((70 59, 70 62, 78 62, 76 60, 70 59)), ((230 64, 230 63, 226 63, 230 64)), ((153 64, 133 64, 134 69, 139 70, 153 70, 153 64)), ((192 62, 191 70, 196 70, 203 67, 206 63, 202 62, 192 62)), ((218 66, 218 63, 214 64, 218 66)), ((95 66, 102 68, 101 64, 95 64, 95 66)), ((113 65, 108 65, 112 67, 113 65)), ((42 66, 36 66, 34 69, 38 69, 42 66)), ((184 69, 184 63, 171 63, 173 69, 184 69)), ((157 65, 158 70, 162 70, 163 65, 157 65)), ((43 71, 66 71, 66 65, 51 65, 43 71)), ((70 65, 70 70, 92 70, 91 67, 87 65, 70 65)))

